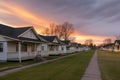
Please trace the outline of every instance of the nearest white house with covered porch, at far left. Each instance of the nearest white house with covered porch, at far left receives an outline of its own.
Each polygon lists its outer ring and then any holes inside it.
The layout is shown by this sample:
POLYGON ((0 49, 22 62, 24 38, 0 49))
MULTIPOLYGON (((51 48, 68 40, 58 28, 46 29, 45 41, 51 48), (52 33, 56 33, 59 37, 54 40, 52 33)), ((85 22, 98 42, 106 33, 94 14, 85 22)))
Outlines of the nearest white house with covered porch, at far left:
POLYGON ((40 55, 44 41, 33 27, 13 28, 0 24, 0 60, 26 60, 40 55))

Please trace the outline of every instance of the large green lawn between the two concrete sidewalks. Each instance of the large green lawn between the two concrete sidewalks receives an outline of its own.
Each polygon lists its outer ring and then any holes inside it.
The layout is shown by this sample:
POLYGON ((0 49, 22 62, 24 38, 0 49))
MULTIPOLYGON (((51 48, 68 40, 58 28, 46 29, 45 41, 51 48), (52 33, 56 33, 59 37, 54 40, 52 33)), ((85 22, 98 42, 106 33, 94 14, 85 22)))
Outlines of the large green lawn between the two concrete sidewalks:
POLYGON ((80 80, 93 53, 81 52, 0 77, 0 80, 80 80))

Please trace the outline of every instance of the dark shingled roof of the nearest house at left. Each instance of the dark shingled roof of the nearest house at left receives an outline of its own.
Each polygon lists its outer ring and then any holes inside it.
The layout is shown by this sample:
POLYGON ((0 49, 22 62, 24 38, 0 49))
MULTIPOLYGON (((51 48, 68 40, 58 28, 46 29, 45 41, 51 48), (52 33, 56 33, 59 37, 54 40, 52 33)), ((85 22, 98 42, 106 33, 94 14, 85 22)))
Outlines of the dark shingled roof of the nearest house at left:
POLYGON ((23 34, 25 31, 27 31, 29 29, 33 29, 33 28, 32 27, 13 28, 13 27, 10 27, 10 26, 0 24, 0 35, 7 36, 7 37, 10 37, 10 38, 13 38, 13 39, 23 40, 23 41, 44 42, 39 38, 37 40, 37 39, 19 37, 19 35, 23 34))

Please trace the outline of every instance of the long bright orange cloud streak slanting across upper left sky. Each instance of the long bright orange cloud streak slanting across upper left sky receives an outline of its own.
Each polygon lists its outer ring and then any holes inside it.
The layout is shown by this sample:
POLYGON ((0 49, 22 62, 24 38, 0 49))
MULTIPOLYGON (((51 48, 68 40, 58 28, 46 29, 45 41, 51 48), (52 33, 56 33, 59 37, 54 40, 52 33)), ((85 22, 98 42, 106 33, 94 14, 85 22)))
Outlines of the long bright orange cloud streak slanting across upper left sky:
POLYGON ((15 4, 12 5, 10 3, 5 2, 1 2, 0 5, 8 9, 0 9, 0 12, 15 15, 21 18, 22 20, 31 23, 32 25, 40 25, 41 28, 47 27, 49 25, 49 21, 47 19, 44 19, 43 17, 37 17, 21 6, 15 4))

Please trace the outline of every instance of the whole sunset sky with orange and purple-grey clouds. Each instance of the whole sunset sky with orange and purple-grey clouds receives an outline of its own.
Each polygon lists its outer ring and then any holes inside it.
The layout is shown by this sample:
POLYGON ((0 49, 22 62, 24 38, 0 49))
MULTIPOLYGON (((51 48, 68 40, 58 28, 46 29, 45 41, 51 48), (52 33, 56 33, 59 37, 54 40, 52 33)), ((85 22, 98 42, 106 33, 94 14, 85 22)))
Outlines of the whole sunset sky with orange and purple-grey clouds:
POLYGON ((96 44, 120 35, 120 0, 0 0, 0 23, 34 26, 38 33, 50 23, 70 22, 73 36, 96 44))

